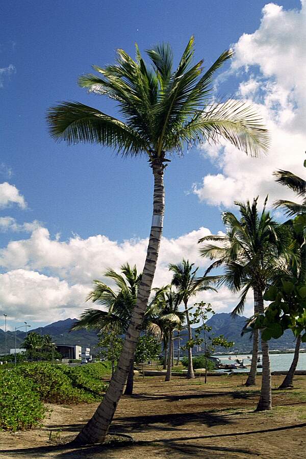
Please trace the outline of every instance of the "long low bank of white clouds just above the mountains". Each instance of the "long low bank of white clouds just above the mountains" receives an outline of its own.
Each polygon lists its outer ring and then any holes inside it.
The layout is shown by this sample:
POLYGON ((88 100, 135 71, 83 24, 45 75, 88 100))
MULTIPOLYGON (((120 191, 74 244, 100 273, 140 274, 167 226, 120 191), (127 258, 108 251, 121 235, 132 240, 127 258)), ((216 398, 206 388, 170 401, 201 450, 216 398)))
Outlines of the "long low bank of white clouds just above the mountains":
MULTIPOLYGON (((8 226, 15 224, 9 217, 6 221, 8 226)), ((117 242, 96 235, 61 241, 58 236, 51 238, 42 226, 34 225, 31 231, 29 238, 10 241, 0 250, 0 266, 7 271, 0 274, 1 310, 16 320, 27 317, 34 322, 49 322, 78 317, 85 308, 92 307, 85 299, 94 278, 103 279, 108 268, 119 270, 126 262, 136 264, 139 271, 143 268, 147 239, 117 242)), ((208 228, 201 227, 178 238, 164 237, 154 286, 168 284, 168 264, 180 263, 183 258, 206 268, 210 261, 199 257, 197 241, 209 234, 208 228)), ((232 311, 237 303, 237 297, 226 288, 220 293, 203 292, 191 304, 200 300, 212 302, 218 312, 232 311)))

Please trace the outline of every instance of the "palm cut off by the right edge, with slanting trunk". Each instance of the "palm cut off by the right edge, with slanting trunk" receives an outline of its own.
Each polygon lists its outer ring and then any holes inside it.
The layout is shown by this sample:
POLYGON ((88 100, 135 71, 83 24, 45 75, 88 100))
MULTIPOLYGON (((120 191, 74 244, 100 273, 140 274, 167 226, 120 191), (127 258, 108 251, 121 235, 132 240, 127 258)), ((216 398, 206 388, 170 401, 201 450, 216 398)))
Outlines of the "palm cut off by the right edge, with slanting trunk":
MULTIPOLYGON (((295 175, 294 173, 288 170, 278 170, 273 173, 276 177, 275 182, 288 187, 298 197, 302 197, 302 202, 293 202, 284 199, 279 199, 275 201, 274 207, 281 208, 285 211, 288 216, 297 216, 297 215, 305 215, 306 214, 306 181, 301 179, 301 177, 295 175)), ((293 237, 296 240, 298 246, 300 247, 300 269, 296 274, 296 278, 300 284, 306 283, 306 240, 304 235, 297 234, 294 231, 294 226, 292 221, 288 221, 289 225, 291 226, 291 231, 293 232, 293 237)), ((296 337, 295 343, 295 350, 292 363, 290 365, 289 371, 284 378, 281 386, 279 389, 287 389, 293 387, 293 378, 295 374, 295 370, 298 363, 299 358, 299 349, 301 344, 301 335, 296 337)))

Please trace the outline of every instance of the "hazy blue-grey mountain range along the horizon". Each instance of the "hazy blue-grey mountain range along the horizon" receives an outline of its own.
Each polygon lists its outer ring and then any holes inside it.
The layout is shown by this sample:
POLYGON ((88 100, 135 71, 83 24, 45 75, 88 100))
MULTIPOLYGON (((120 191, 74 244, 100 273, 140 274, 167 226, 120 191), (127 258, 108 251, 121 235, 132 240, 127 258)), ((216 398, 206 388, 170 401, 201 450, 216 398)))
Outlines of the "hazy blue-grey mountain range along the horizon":
MULTIPOLYGON (((247 320, 244 316, 238 316, 233 319, 231 314, 220 313, 213 315, 208 321, 207 325, 212 327, 209 335, 215 336, 224 335, 228 341, 234 341, 235 345, 230 351, 243 351, 250 352, 252 343, 249 340, 249 334, 241 337, 241 330, 247 320)), ((98 343, 98 336, 95 331, 77 330, 69 331, 71 325, 77 322, 78 319, 59 320, 44 327, 31 329, 36 331, 39 335, 51 335, 52 339, 57 344, 76 344, 82 347, 90 347, 93 349, 98 343)), ((29 332, 28 332, 29 333, 29 332)), ((200 333, 203 337, 203 333, 200 333)), ((17 330, 16 332, 16 347, 21 347, 25 338, 25 332, 17 330)), ((188 340, 187 331, 181 332, 181 346, 184 346, 188 340)), ((177 347, 177 341, 174 340, 174 346, 177 347), (175 344, 176 343, 176 344, 175 344)), ((291 330, 286 330, 284 335, 278 340, 270 340, 269 348, 275 349, 292 349, 295 346, 294 336, 291 330)), ((14 349, 15 347, 15 332, 7 331, 7 349, 14 349)), ((306 343, 302 343, 302 348, 306 348, 306 343)), ((216 348, 216 351, 222 351, 222 348, 216 348)), ((5 333, 0 329, 0 354, 5 352, 5 333)), ((226 352, 226 351, 225 351, 226 352)))

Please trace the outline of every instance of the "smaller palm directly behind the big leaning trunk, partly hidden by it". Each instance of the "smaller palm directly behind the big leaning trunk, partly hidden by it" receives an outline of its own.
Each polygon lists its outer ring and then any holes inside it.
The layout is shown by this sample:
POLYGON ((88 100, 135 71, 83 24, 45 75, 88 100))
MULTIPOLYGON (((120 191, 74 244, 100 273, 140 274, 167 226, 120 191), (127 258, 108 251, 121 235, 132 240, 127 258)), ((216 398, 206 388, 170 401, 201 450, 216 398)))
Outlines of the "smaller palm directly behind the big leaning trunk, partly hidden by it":
MULTIPOLYGON (((126 334, 135 308, 137 293, 141 282, 141 274, 137 273, 136 266, 131 267, 129 263, 120 267, 121 274, 114 270, 108 270, 104 276, 115 282, 115 291, 104 282, 94 280, 94 289, 89 293, 87 300, 97 302, 106 308, 87 309, 81 314, 78 322, 71 326, 71 330, 95 329, 101 332, 115 332, 118 335, 126 334)), ((160 291, 156 291, 155 298, 158 298, 160 291)), ((146 311, 142 329, 156 331, 157 326, 151 322, 152 314, 156 315, 155 303, 149 303, 146 311)), ((134 385, 134 356, 131 362, 129 374, 127 375, 125 395, 133 394, 134 385)))

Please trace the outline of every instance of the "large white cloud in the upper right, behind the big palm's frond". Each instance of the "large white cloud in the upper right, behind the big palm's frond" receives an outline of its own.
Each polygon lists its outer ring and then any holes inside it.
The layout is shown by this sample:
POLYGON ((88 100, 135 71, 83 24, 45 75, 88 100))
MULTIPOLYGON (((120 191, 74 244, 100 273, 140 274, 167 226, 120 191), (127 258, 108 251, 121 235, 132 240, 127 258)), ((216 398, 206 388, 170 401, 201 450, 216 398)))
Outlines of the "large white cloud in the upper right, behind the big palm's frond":
POLYGON ((263 8, 260 27, 243 34, 234 46, 232 73, 243 72, 239 96, 252 102, 271 134, 267 156, 252 159, 232 145, 206 146, 220 172, 203 177, 193 191, 213 206, 233 206, 234 200, 269 194, 274 199, 293 198, 277 185, 272 172, 291 170, 303 175, 306 149, 306 4, 301 10, 284 10, 270 3, 263 8))

